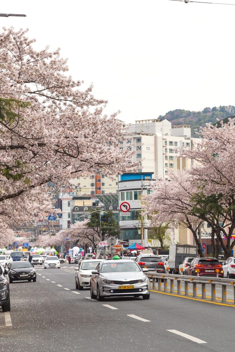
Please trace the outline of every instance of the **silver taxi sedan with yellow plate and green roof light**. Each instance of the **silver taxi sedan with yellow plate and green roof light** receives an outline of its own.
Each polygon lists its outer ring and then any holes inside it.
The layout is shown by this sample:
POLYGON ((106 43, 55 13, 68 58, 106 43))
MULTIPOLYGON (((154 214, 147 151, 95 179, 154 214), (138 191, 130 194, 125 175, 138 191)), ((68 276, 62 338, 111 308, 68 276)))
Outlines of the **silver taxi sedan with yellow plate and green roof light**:
MULTIPOLYGON (((143 268, 144 272, 148 269, 143 268)), ((150 297, 149 279, 133 260, 111 259, 97 265, 91 275, 91 298, 104 301, 112 296, 150 297)))

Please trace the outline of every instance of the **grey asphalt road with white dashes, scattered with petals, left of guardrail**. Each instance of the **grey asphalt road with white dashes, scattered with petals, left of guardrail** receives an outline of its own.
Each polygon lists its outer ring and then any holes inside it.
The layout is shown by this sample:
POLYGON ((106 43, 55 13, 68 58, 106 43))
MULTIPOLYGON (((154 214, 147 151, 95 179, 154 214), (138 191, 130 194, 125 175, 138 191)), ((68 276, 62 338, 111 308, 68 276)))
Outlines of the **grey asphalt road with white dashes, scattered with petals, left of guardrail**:
POLYGON ((235 307, 157 292, 98 302, 89 289, 75 289, 75 266, 37 266, 36 283, 11 284, 11 312, 0 309, 0 351, 234 350, 235 307))

